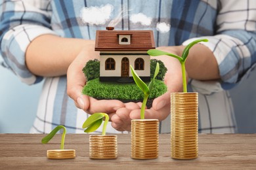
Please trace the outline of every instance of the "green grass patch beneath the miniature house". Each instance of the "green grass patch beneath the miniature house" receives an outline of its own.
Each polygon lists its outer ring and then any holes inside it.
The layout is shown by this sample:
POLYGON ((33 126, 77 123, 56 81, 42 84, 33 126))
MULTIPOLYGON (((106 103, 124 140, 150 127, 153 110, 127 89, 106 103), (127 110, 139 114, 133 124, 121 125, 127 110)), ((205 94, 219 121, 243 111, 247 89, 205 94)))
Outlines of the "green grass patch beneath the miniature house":
MULTIPOLYGON (((149 83, 149 82, 148 82, 149 83)), ((148 85, 148 83, 146 83, 148 85)), ((155 80, 154 88, 149 99, 154 99, 167 92, 167 87, 161 80, 155 80)), ((133 83, 100 82, 98 78, 89 80, 83 88, 83 94, 95 99, 142 100, 144 95, 133 83)))

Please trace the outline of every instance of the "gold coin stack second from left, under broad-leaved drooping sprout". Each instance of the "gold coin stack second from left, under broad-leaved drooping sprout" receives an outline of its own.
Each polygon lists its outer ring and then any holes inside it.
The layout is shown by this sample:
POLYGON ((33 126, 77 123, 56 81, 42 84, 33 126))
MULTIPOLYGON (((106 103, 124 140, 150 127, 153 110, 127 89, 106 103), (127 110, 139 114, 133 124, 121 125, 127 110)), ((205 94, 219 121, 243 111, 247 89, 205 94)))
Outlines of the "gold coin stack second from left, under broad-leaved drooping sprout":
POLYGON ((89 157, 108 160, 117 158, 117 135, 90 135, 89 157))

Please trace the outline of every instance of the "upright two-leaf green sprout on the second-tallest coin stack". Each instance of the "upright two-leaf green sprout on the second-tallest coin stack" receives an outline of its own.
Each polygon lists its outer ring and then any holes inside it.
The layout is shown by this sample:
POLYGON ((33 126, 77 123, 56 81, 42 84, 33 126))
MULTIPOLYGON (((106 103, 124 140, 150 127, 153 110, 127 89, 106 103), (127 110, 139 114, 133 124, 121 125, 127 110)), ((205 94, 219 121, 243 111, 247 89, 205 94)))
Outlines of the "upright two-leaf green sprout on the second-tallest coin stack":
POLYGON ((140 119, 144 119, 145 118, 146 102, 148 101, 148 96, 152 92, 155 78, 159 73, 159 69, 160 69, 159 63, 156 63, 156 70, 154 73, 154 77, 152 78, 152 80, 150 81, 150 84, 148 84, 148 86, 146 86, 146 84, 140 79, 139 75, 137 75, 136 71, 133 69, 133 66, 130 65, 130 67, 131 67, 131 73, 133 74, 133 79, 134 79, 135 83, 140 88, 140 90, 142 90, 142 92, 144 93, 144 99, 142 101, 142 107, 140 109, 140 119))

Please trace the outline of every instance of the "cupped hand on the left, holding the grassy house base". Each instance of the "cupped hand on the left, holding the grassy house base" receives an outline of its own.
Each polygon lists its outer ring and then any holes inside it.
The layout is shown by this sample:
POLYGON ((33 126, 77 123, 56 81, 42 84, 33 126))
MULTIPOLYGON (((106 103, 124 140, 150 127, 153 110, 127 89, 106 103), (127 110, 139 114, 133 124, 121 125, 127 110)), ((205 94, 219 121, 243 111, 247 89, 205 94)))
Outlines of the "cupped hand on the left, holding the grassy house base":
POLYGON ((89 114, 106 112, 112 116, 117 109, 125 107, 121 101, 97 100, 82 94, 83 87, 86 84, 86 78, 82 69, 87 61, 95 58, 99 58, 99 52, 95 52, 95 44, 87 44, 68 67, 67 93, 79 109, 83 109, 89 114))

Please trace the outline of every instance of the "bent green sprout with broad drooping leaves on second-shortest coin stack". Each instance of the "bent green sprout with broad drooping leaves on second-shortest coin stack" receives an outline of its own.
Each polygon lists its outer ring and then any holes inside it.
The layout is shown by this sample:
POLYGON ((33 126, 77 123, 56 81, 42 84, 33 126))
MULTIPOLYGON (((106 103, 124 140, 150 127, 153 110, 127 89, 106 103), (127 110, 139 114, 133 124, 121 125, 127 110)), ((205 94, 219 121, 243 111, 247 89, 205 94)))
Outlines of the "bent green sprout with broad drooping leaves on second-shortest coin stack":
POLYGON ((98 129, 98 127, 100 127, 100 125, 102 124, 104 117, 105 122, 102 128, 102 135, 106 135, 106 126, 108 124, 109 117, 108 114, 104 112, 95 112, 89 118, 87 118, 87 120, 85 120, 85 122, 83 123, 83 129, 87 128, 85 129, 85 132, 90 133, 96 131, 96 129, 98 129))

